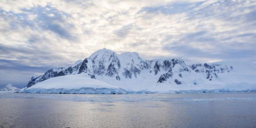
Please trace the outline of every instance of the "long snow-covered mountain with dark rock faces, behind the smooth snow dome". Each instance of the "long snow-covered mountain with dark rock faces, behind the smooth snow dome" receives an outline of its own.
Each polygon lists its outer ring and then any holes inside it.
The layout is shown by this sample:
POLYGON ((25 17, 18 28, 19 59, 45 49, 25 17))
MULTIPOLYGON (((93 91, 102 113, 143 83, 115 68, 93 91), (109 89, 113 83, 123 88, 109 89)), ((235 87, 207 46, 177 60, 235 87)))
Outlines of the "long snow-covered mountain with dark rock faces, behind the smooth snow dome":
POLYGON ((249 62, 186 65, 181 58, 144 60, 136 52, 117 54, 105 48, 68 68, 52 68, 43 75, 33 76, 26 88, 53 77, 76 74, 140 92, 253 91, 256 88, 256 66, 249 62))

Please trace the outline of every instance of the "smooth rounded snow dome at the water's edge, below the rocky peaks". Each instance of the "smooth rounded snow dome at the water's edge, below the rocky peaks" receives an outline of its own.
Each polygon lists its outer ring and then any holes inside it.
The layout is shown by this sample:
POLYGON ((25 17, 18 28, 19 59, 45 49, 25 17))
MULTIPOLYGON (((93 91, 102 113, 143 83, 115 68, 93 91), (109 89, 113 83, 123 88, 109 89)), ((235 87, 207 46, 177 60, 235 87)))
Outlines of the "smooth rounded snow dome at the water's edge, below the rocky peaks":
POLYGON ((85 74, 59 76, 22 89, 21 93, 125 94, 125 90, 85 74))

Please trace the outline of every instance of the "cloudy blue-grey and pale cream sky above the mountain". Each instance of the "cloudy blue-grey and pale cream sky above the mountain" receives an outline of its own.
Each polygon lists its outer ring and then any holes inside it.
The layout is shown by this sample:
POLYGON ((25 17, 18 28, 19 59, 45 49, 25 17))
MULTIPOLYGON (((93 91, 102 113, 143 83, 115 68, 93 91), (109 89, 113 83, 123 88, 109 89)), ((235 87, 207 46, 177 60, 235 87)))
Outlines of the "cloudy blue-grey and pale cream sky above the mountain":
POLYGON ((0 0, 0 88, 96 50, 256 62, 255 0, 0 0))

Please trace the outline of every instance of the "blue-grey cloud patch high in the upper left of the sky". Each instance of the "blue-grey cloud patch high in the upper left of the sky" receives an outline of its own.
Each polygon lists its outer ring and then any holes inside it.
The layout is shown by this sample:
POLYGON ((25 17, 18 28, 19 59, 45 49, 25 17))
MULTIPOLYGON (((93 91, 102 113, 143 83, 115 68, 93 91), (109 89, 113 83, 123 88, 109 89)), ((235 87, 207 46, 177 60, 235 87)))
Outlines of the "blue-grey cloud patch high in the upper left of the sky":
POLYGON ((10 25, 13 29, 15 29, 17 25, 22 25, 23 27, 28 26, 36 30, 50 30, 59 35, 60 37, 68 40, 72 40, 75 38, 69 32, 70 28, 72 28, 73 25, 70 23, 66 23, 66 19, 63 18, 69 17, 68 13, 61 12, 57 8, 51 7, 50 5, 47 5, 46 7, 37 6, 30 9, 24 8, 22 10, 27 13, 12 13, 15 18, 18 18, 18 21, 21 22, 21 24, 17 22, 10 22, 10 25), (28 14, 35 14, 37 15, 37 17, 33 20, 30 20, 28 18, 28 14), (50 15, 54 16, 51 17, 50 15))

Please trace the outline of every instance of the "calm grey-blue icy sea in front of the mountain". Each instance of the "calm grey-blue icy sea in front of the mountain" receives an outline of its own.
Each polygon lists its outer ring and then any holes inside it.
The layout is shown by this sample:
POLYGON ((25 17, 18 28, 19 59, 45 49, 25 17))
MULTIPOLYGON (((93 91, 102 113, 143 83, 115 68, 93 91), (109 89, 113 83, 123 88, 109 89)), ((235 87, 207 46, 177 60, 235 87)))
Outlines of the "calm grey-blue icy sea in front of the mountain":
POLYGON ((0 93, 0 128, 256 128, 256 93, 0 93))

